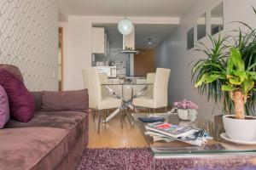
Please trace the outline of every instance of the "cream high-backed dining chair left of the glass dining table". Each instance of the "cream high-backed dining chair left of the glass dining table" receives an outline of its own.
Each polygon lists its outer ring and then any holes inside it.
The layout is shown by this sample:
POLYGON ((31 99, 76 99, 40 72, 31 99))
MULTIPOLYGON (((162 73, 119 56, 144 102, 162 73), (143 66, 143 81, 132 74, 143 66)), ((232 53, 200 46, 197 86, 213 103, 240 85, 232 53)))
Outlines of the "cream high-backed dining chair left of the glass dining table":
POLYGON ((116 99, 110 95, 102 95, 100 74, 96 68, 86 68, 82 72, 84 77, 84 87, 88 88, 89 91, 89 108, 93 111, 98 111, 98 133, 100 133, 102 110, 119 108, 122 105, 122 100, 116 99))

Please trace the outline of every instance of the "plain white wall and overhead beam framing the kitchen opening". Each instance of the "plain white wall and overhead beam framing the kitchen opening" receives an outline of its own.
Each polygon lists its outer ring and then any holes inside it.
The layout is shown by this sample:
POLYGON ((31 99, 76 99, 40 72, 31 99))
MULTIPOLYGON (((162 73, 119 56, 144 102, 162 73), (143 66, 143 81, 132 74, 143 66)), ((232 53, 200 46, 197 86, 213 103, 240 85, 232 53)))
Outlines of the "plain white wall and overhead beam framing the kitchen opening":
MULTIPOLYGON (((64 29, 64 89, 84 88, 81 70, 91 65, 91 26, 93 23, 118 23, 123 17, 69 16, 64 29)), ((177 17, 131 17, 135 24, 179 24, 177 17)))

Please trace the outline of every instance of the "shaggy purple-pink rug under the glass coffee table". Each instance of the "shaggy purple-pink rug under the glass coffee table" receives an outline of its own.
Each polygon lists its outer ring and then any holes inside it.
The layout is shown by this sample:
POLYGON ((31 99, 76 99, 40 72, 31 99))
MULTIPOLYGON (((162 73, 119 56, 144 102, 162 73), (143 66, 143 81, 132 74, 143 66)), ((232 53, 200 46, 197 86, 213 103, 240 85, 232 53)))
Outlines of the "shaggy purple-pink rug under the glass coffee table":
MULTIPOLYGON (((252 157, 250 157, 252 158, 252 157)), ((154 159, 149 149, 86 149, 76 170, 253 170, 249 157, 154 159)))

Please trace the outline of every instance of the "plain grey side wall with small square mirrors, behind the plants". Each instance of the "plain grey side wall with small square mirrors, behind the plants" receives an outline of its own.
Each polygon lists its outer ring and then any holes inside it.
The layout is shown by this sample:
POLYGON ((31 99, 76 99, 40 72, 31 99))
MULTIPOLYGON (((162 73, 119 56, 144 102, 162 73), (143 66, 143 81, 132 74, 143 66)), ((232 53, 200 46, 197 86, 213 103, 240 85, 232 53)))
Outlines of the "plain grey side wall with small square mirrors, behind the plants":
MULTIPOLYGON (((176 100, 190 99, 199 105, 199 117, 201 119, 212 120, 212 109, 214 103, 207 102, 205 96, 200 96, 191 82, 191 67, 189 64, 194 59, 200 59, 202 54, 195 53, 186 49, 186 36, 190 28, 196 28, 196 20, 201 14, 207 13, 207 33, 210 33, 210 11, 212 8, 222 2, 221 0, 199 0, 190 8, 186 14, 181 17, 181 25, 177 27, 171 35, 160 43, 157 48, 156 66, 171 68, 171 77, 169 82, 169 103, 176 100)), ((255 0, 223 0, 224 2, 224 31, 238 28, 237 24, 228 24, 230 21, 241 20, 250 26, 256 27, 256 16, 253 13, 251 5, 256 6, 255 0)), ((216 35, 218 36, 218 35, 216 35)), ((196 29, 195 29, 195 38, 196 29)), ((196 40, 195 40, 196 41, 196 40)), ((204 37, 201 42, 210 47, 209 40, 204 37)), ((221 113, 221 105, 214 110, 214 114, 221 113)))

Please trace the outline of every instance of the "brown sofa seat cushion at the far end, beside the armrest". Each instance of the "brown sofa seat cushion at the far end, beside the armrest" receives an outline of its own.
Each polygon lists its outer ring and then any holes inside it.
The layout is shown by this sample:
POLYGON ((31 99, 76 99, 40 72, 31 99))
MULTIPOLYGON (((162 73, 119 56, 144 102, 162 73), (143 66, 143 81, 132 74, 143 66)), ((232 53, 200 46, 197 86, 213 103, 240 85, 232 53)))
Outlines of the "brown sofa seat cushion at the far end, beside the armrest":
MULTIPOLYGON (((5 127, 58 127, 66 129, 69 131, 68 145, 69 148, 72 148, 79 136, 88 128, 88 114, 81 111, 40 111, 34 114, 30 122, 22 123, 11 120, 5 127)), ((84 133, 84 135, 86 134, 84 133)))

